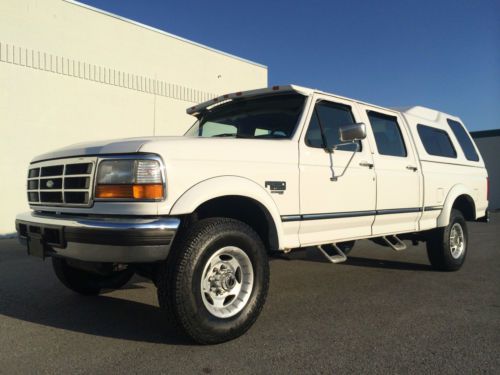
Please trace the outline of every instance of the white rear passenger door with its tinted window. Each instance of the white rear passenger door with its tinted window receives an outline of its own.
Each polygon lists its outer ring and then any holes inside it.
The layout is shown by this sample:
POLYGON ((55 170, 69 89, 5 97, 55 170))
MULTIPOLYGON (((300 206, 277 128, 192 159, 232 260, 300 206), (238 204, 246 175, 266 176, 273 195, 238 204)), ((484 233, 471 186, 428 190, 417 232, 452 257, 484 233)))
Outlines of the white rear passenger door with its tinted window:
POLYGON ((377 181, 372 234, 418 230, 422 177, 413 141, 402 117, 393 111, 363 105, 372 132, 377 181))

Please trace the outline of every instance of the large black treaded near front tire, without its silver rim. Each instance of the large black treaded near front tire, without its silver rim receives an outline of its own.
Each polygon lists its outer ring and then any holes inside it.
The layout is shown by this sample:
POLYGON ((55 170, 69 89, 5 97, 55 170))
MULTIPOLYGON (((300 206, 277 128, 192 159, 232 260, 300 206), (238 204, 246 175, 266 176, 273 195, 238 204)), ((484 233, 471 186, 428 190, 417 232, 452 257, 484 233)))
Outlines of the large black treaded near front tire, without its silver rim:
POLYGON ((228 218, 200 220, 180 235, 159 268, 160 307, 178 330, 199 344, 218 344, 241 336, 257 320, 269 289, 269 263, 262 240, 248 225, 228 218), (200 282, 208 259, 225 246, 245 252, 253 267, 254 284, 239 313, 218 318, 205 307, 200 282))

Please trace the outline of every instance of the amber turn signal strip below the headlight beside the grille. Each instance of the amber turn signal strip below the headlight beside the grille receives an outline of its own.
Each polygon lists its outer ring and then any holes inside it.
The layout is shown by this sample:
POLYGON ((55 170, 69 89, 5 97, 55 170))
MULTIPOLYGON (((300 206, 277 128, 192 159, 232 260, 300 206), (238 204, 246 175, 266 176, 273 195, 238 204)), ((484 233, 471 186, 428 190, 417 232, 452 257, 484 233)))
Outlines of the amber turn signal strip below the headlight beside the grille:
POLYGON ((162 199, 162 184, 97 185, 96 198, 162 199))

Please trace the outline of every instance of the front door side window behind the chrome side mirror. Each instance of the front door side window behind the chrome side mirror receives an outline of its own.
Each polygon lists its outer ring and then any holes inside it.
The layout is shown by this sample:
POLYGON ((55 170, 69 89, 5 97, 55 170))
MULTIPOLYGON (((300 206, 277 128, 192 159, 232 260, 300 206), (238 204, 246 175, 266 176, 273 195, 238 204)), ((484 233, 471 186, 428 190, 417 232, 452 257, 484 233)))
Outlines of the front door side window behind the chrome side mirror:
MULTIPOLYGON (((310 147, 324 148, 340 144, 339 129, 342 126, 354 124, 351 107, 343 104, 319 101, 314 107, 314 112, 309 122, 306 133, 306 144, 310 147), (325 133, 326 145, 323 144, 321 127, 325 133)), ((341 150, 355 150, 356 145, 346 143, 341 150)), ((361 142, 359 142, 361 150, 361 142)))

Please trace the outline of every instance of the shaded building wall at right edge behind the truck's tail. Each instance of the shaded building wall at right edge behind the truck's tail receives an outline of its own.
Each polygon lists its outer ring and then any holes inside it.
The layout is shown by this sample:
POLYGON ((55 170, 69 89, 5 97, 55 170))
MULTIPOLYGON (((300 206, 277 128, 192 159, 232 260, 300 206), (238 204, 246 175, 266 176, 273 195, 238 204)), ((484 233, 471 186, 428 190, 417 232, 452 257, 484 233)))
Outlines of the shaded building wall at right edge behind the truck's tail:
MULTIPOLYGON (((496 131, 496 133, 500 133, 500 130, 496 131)), ((500 209, 500 135, 487 137, 475 137, 474 133, 471 135, 488 170, 490 181, 489 209, 500 209)))

